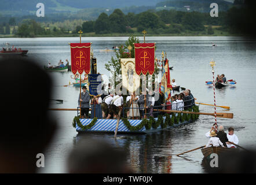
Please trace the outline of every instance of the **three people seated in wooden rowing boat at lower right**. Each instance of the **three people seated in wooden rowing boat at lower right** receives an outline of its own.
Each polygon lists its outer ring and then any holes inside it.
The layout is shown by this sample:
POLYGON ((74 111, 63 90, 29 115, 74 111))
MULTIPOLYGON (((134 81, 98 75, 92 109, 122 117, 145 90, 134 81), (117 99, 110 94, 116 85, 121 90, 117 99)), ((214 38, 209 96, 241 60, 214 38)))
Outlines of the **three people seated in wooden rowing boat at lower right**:
POLYGON ((222 125, 220 125, 217 130, 215 129, 214 125, 213 127, 211 127, 210 131, 205 134, 206 138, 210 138, 206 147, 222 146, 228 148, 236 148, 236 145, 238 145, 239 140, 237 136, 234 134, 234 128, 229 127, 228 134, 226 134, 224 131, 224 127, 222 125), (233 143, 235 145, 233 145, 233 143))

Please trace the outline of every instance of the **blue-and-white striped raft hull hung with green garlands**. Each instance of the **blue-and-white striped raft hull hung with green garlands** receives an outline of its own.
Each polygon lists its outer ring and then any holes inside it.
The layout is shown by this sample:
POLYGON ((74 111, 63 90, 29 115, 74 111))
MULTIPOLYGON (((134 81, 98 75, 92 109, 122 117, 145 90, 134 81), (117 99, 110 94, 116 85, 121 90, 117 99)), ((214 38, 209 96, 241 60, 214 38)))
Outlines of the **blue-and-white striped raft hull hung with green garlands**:
MULTIPOLYGON (((193 106, 190 112, 199 112, 199 106, 193 106)), ((199 114, 172 113, 159 115, 156 118, 149 117, 143 120, 129 120, 121 118, 119 121, 118 134, 147 134, 162 129, 177 127, 196 121, 199 114)), ((114 134, 116 129, 116 119, 79 119, 75 116, 73 127, 77 132, 108 132, 114 134)))

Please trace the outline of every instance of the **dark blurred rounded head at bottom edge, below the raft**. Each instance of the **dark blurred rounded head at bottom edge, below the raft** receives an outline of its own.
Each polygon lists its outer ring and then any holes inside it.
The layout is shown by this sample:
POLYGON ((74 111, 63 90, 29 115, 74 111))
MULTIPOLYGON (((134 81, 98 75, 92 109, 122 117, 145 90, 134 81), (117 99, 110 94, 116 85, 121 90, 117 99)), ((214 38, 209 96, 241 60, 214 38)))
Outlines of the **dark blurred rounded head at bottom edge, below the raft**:
POLYGON ((69 173, 132 173, 125 151, 97 139, 79 140, 67 167, 69 173))

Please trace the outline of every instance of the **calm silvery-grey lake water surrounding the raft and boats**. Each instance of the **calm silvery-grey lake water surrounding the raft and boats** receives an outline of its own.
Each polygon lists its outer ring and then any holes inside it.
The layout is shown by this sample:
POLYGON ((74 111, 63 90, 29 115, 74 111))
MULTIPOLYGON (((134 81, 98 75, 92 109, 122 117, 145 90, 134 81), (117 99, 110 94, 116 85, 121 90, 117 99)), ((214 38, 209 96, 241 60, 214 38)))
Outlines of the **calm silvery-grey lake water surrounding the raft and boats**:
MULTIPOLYGON (((124 44, 126 37, 82 38, 83 42, 93 42, 94 57, 97 58, 97 71, 108 75, 104 64, 115 56, 114 52, 104 52, 106 47, 124 44)), ((141 42, 143 38, 140 38, 141 42)), ((213 79, 209 62, 216 62, 215 75, 224 73, 227 80, 236 80, 235 88, 225 87, 216 90, 216 104, 230 106, 217 112, 234 113, 233 119, 217 119, 218 125, 235 128, 239 145, 256 147, 256 40, 239 37, 147 37, 147 42, 157 43, 155 56, 162 58, 166 51, 173 71, 171 79, 176 79, 181 87, 191 89, 197 102, 213 104, 213 88, 206 81, 213 79), (217 44, 211 46, 211 42, 217 44)), ((9 42, 10 46, 28 50, 28 57, 35 58, 39 65, 53 65, 61 60, 70 61, 70 42, 79 42, 78 38, 6 38, 0 43, 9 42)), ((63 103, 52 102, 52 108, 76 108, 79 88, 68 86, 71 72, 52 72, 54 79, 53 99, 63 99, 63 103)), ((200 112, 214 112, 212 106, 200 105, 200 112)), ((81 138, 102 138, 112 145, 129 151, 127 161, 137 173, 204 173, 203 155, 200 150, 177 157, 175 154, 206 145, 204 134, 214 123, 213 116, 200 116, 195 123, 182 125, 147 135, 78 135, 72 127, 76 112, 52 112, 58 121, 58 131, 52 144, 45 152, 45 168, 39 173, 66 173, 66 157, 81 138)), ((227 131, 226 131, 227 132, 227 131)))

